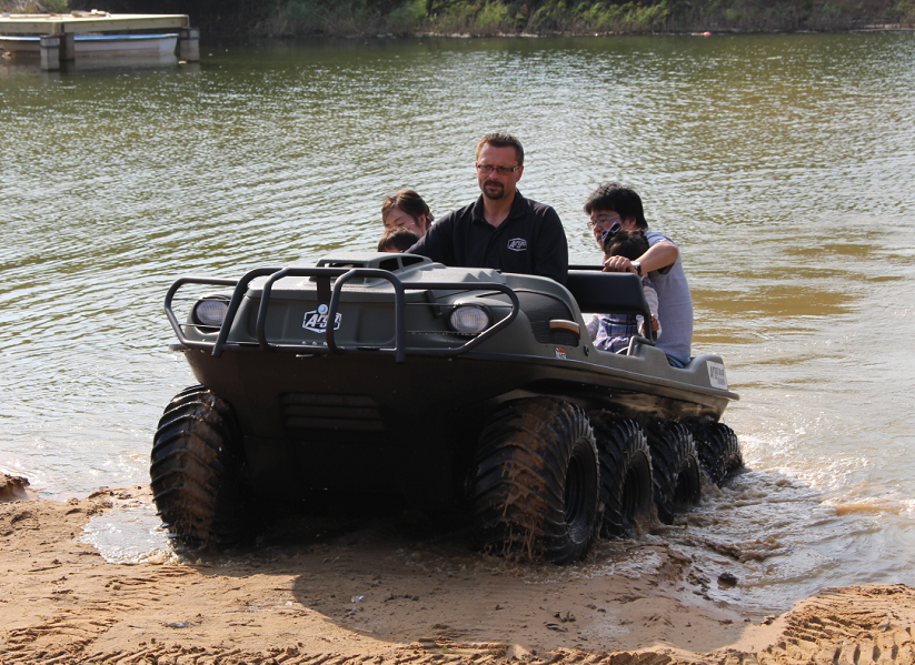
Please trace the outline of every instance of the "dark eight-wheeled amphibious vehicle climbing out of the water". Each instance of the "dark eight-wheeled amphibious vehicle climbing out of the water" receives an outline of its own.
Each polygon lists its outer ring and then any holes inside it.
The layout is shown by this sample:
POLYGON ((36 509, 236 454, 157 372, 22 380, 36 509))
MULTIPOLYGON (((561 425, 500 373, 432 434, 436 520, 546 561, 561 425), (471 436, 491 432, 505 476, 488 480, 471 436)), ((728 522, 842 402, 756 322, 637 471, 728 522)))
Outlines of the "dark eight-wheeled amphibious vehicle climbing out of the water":
POLYGON ((556 563, 655 511, 669 523, 700 472, 742 464, 718 422, 737 399, 724 363, 674 369, 648 337, 598 351, 581 312, 647 314, 640 280, 573 269, 564 286, 376 253, 178 280, 172 349, 201 385, 156 433, 162 521, 219 546, 257 500, 358 488, 466 511, 479 546, 556 563))

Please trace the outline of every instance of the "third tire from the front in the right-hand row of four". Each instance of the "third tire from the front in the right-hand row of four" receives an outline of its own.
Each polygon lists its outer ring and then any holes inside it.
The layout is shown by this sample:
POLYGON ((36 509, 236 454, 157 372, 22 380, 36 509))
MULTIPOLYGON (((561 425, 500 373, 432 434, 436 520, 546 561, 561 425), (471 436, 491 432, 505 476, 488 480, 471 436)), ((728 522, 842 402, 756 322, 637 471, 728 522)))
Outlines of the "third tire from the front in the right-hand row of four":
POLYGON ((673 524, 677 513, 696 505, 702 497, 702 476, 696 444, 680 423, 652 419, 643 423, 652 451, 655 506, 658 520, 673 524))

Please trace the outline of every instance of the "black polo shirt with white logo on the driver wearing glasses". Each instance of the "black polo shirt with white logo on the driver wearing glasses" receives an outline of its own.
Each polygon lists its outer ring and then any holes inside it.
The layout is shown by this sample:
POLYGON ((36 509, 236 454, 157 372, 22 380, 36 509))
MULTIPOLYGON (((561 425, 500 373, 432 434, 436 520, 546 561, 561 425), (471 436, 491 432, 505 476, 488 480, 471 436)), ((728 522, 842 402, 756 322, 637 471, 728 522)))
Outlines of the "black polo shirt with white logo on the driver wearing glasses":
POLYGON ((511 212, 498 226, 484 216, 483 195, 441 216, 407 253, 456 268, 495 268, 566 283, 566 232, 549 205, 515 192, 511 212))

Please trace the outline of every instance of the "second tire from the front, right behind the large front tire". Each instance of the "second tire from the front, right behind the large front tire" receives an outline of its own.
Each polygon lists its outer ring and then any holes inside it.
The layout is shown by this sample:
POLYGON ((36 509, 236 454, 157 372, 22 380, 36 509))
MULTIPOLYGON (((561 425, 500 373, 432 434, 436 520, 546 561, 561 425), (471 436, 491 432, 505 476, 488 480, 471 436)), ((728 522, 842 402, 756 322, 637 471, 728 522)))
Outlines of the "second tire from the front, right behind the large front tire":
POLYGON ((645 531, 654 515, 652 453, 642 429, 607 411, 588 414, 600 456, 603 537, 645 531))

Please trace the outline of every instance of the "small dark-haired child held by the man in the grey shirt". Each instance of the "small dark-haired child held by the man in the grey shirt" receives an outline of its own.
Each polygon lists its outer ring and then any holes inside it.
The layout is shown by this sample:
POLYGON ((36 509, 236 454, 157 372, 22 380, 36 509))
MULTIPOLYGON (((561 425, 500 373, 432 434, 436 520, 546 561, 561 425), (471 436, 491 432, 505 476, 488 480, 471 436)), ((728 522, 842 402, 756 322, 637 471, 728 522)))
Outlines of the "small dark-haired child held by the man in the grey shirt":
MULTIPOLYGON (((620 231, 618 223, 604 231, 601 239, 605 256, 626 256, 635 261, 648 251, 644 231, 620 231)), ((658 294, 648 275, 642 278, 642 289, 652 312, 652 330, 660 336, 658 322, 658 294)), ((629 347, 629 340, 644 334, 644 322, 638 314, 594 314, 588 322, 588 334, 595 347, 617 353, 629 347)))

